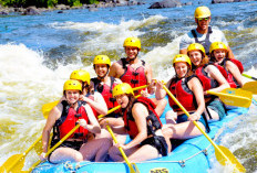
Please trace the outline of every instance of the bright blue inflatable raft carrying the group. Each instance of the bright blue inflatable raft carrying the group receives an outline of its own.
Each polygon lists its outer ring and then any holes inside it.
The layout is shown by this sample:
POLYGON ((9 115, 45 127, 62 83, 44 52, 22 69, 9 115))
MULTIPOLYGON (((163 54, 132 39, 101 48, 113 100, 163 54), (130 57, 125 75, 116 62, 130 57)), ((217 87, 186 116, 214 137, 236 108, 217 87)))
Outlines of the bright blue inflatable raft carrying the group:
MULTIPOLYGON (((166 106, 163 116, 171 107, 166 106)), ((209 123, 210 132, 208 136, 214 139, 217 131, 232 121, 234 118, 246 113, 247 108, 234 108, 228 110, 227 116, 217 122, 209 123)), ((173 143, 174 144, 174 143, 173 143)), ((214 148, 209 141, 204 137, 197 137, 182 142, 167 156, 158 158, 151 161, 136 163, 141 173, 173 173, 183 172, 191 173, 193 170, 197 173, 207 172, 210 169, 210 158, 214 156, 214 148)), ((49 162, 38 165, 33 173, 130 173, 126 163, 120 162, 65 162, 62 164, 51 164, 49 162)))

